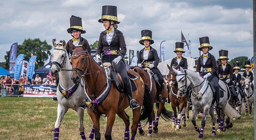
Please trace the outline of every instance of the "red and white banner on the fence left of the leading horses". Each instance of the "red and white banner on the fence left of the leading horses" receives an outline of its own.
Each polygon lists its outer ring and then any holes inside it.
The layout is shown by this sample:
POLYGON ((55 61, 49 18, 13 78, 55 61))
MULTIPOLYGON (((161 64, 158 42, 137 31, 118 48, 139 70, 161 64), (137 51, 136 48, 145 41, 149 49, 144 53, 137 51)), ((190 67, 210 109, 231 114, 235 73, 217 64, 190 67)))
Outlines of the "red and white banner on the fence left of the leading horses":
POLYGON ((50 97, 57 92, 57 86, 23 85, 23 97, 50 97))

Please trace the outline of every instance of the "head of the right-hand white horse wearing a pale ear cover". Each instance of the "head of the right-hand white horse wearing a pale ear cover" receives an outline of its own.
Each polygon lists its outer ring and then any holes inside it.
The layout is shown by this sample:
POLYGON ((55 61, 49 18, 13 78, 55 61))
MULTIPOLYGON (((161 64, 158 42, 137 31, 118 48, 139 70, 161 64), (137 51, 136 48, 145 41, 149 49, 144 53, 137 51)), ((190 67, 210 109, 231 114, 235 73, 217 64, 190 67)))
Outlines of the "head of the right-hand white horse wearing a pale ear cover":
POLYGON ((180 97, 185 96, 185 94, 187 94, 187 89, 188 86, 190 85, 190 80, 187 80, 187 73, 182 69, 182 67, 180 67, 180 71, 173 69, 173 71, 177 74, 176 75, 176 80, 178 83, 178 92, 177 95, 180 97))

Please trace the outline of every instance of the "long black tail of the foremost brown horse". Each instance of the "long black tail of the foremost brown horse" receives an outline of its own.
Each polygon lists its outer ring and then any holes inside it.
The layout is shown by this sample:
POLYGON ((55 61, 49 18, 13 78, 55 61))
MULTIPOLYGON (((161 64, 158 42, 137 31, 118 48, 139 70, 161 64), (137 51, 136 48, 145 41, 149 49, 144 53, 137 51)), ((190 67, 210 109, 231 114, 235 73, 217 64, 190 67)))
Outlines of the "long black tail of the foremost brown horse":
POLYGON ((153 110, 153 96, 150 93, 150 89, 148 88, 148 85, 145 83, 143 105, 140 110, 139 121, 145 121, 145 123, 148 123, 148 120, 152 118, 152 110, 153 110))

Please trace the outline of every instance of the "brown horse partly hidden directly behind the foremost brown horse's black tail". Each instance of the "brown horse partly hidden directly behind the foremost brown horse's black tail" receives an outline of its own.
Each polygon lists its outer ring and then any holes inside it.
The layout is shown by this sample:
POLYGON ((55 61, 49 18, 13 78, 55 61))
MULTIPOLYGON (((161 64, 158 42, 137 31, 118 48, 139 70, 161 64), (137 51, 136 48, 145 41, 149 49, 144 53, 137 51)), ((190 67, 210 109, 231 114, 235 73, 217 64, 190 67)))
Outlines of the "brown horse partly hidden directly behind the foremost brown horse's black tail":
MULTIPOLYGON (((160 115, 164 120, 170 120, 172 118, 173 113, 165 108, 165 100, 168 96, 167 88, 166 88, 166 86, 164 86, 164 89, 162 90, 163 102, 158 103, 157 102, 157 97, 158 97, 157 86, 156 86, 155 80, 153 79, 152 75, 149 74, 146 70, 143 70, 142 67, 139 67, 139 66, 130 67, 130 69, 133 70, 133 71, 136 71, 141 76, 144 83, 146 83, 149 86, 150 92, 151 92, 151 94, 153 94, 153 97, 154 97, 153 103, 156 103, 157 118, 155 119, 155 112, 154 112, 154 110, 152 110, 152 117, 153 118, 151 118, 149 120, 148 136, 151 136, 152 132, 153 133, 158 132, 157 126, 158 126, 158 121, 159 121, 160 115), (151 82, 151 80, 152 80, 152 82, 151 82), (152 85, 152 87, 151 87, 151 85, 152 85), (153 130, 152 130, 152 122, 153 122, 153 130)), ((138 126, 139 126, 138 127, 139 134, 144 135, 144 130, 142 129, 142 127, 140 125, 140 122, 138 122, 138 126)))

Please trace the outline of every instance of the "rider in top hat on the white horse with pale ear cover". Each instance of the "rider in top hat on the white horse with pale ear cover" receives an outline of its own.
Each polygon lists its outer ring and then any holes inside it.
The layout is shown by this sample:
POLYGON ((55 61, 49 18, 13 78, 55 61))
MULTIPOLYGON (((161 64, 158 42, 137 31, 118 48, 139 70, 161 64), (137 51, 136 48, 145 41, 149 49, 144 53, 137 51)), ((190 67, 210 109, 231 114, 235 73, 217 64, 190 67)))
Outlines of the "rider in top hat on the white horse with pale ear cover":
MULTIPOLYGON (((215 97, 216 97, 216 109, 221 110, 222 106, 219 103, 220 98, 220 90, 219 90, 219 79, 217 74, 217 63, 214 55, 210 54, 208 51, 212 49, 210 45, 210 40, 208 36, 204 36, 199 38, 200 48, 198 50, 203 51, 203 54, 198 58, 196 73, 200 75, 200 72, 203 78, 207 78, 208 80, 214 83, 215 89, 215 97), (203 67, 201 71, 201 67, 203 67)), ((200 75, 201 76, 201 75, 200 75)))

